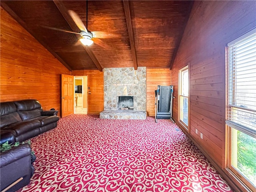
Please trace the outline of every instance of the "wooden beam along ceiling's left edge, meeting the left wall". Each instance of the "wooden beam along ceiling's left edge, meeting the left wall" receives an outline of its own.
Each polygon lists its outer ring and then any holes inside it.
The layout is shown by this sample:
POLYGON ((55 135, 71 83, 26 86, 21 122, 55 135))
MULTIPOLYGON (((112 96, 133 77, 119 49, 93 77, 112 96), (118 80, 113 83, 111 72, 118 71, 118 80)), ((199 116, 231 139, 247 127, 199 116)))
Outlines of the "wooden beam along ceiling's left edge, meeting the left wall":
POLYGON ((58 59, 66 68, 68 68, 68 70, 72 71, 70 66, 66 64, 66 62, 62 60, 62 58, 60 58, 60 56, 54 52, 54 50, 52 50, 39 36, 37 36, 36 33, 30 30, 26 23, 17 14, 15 14, 6 3, 1 1, 1 7, 4 8, 4 10, 6 10, 10 16, 12 16, 26 31, 28 31, 40 44, 42 44, 42 46, 44 46, 44 48, 46 48, 56 59, 58 59))

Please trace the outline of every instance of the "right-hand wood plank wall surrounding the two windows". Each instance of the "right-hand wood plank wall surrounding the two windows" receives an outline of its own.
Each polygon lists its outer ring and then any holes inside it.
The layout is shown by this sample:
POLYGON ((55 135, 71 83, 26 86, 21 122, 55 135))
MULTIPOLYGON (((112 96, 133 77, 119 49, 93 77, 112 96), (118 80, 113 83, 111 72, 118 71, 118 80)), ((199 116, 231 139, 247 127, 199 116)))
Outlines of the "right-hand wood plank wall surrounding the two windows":
POLYGON ((226 165, 225 46, 255 27, 255 9, 253 1, 195 1, 172 67, 174 120, 178 70, 190 63, 189 135, 220 168, 226 165))

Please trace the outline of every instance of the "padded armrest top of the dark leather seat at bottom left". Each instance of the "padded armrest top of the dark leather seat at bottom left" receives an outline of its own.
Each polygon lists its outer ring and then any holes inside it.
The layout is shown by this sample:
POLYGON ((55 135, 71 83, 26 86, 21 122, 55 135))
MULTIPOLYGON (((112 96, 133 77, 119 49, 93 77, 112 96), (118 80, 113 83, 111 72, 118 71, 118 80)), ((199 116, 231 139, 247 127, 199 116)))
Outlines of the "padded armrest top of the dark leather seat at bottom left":
POLYGON ((1 153, 0 168, 15 162, 25 156, 30 156, 31 148, 29 144, 21 144, 1 153))

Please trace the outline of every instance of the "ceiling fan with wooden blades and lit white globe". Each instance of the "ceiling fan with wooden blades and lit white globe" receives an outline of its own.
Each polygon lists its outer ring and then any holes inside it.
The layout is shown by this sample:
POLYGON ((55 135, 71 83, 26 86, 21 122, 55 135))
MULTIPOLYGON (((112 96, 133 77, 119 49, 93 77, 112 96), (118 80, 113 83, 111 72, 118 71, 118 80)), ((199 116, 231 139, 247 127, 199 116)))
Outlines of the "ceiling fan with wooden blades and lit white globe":
POLYGON ((76 12, 72 10, 68 10, 68 14, 71 16, 72 20, 75 22, 76 26, 80 29, 80 32, 73 32, 69 30, 64 30, 64 29, 59 29, 59 28, 54 28, 54 27, 49 27, 49 26, 42 26, 44 28, 49 28, 52 30, 58 30, 58 31, 63 31, 63 32, 68 32, 68 33, 73 33, 73 34, 80 34, 82 38, 80 38, 80 42, 85 45, 85 46, 90 46, 94 42, 104 48, 107 48, 108 46, 104 45, 103 42, 99 38, 118 38, 120 35, 117 34, 107 34, 106 32, 101 32, 101 31, 94 31, 90 32, 88 30, 88 0, 86 0, 86 26, 76 14, 76 12))

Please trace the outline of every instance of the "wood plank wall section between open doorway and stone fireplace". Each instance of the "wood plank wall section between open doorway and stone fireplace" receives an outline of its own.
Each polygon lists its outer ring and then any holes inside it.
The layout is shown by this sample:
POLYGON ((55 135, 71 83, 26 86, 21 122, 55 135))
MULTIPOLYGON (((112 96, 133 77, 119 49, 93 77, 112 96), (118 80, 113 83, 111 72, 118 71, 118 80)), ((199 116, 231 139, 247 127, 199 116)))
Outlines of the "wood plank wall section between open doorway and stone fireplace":
POLYGON ((104 78, 99 70, 74 70, 74 76, 87 76, 88 114, 99 115, 104 110, 104 78), (91 92, 91 94, 89 94, 91 92))

